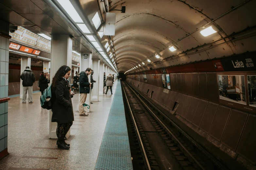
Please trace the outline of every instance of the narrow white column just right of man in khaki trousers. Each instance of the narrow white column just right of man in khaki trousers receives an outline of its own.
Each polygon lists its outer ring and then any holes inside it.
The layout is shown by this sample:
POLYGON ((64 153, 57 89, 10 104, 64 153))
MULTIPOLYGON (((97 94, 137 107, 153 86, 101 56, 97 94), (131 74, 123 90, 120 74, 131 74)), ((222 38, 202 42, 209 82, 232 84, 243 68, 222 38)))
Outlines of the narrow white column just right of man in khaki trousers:
POLYGON ((100 67, 100 60, 99 59, 93 59, 93 79, 96 81, 96 83, 93 83, 93 89, 92 89, 92 101, 98 102, 99 101, 99 67, 100 67))

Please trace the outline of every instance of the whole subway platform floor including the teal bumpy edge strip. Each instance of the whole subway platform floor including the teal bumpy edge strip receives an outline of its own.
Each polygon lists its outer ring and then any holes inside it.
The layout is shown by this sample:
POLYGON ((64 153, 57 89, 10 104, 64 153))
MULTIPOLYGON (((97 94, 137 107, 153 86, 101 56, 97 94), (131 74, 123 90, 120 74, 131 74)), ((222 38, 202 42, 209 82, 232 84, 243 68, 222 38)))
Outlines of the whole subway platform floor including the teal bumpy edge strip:
POLYGON ((58 149, 57 139, 48 138, 49 111, 40 106, 40 92, 33 93, 34 104, 22 104, 19 97, 12 97, 8 107, 9 155, 0 160, 0 169, 132 169, 120 82, 112 89, 113 95, 109 91, 90 105, 88 117, 78 115, 78 95, 72 98, 76 115, 66 140, 69 150, 58 149))

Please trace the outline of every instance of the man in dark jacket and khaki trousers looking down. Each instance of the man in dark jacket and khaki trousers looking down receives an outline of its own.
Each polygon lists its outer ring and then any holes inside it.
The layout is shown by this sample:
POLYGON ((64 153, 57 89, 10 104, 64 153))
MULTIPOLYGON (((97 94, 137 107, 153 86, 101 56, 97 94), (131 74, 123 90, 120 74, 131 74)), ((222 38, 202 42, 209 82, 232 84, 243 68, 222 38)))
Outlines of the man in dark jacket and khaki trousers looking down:
POLYGON ((84 113, 83 104, 86 101, 87 94, 90 93, 91 84, 89 82, 88 76, 92 73, 91 68, 87 68, 85 71, 80 72, 79 78, 79 93, 80 93, 80 102, 79 102, 79 115, 80 116, 88 116, 88 114, 84 113))

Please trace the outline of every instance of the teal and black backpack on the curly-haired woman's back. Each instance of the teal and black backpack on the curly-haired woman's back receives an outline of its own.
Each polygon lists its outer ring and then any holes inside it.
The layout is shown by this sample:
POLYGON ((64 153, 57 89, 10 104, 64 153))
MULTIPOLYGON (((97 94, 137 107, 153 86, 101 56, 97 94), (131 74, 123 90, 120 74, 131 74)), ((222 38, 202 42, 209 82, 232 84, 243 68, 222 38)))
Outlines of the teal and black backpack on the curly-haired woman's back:
POLYGON ((51 110, 53 106, 51 86, 52 85, 47 87, 47 89, 43 91, 43 95, 40 97, 41 107, 47 110, 51 110))

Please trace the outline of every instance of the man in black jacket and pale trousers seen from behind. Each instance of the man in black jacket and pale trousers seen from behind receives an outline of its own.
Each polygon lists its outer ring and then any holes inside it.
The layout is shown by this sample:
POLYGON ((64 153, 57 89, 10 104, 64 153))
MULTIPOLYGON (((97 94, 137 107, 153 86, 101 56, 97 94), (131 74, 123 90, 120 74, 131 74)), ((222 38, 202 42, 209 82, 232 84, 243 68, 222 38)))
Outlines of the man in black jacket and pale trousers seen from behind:
POLYGON ((23 86, 23 98, 22 103, 26 103, 28 92, 28 103, 34 103, 32 99, 33 83, 35 82, 35 74, 26 66, 26 70, 21 74, 22 86, 23 86))

